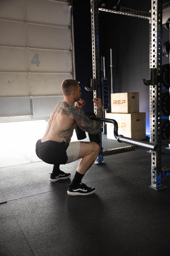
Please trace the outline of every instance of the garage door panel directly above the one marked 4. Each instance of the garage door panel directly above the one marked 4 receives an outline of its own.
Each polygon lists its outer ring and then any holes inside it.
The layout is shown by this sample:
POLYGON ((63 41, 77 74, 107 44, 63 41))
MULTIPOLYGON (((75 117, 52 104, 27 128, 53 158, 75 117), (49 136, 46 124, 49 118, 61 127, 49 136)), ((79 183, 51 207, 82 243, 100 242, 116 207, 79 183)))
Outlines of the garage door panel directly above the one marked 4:
POLYGON ((71 49, 71 31, 69 28, 43 26, 31 23, 28 23, 27 26, 30 47, 71 49))

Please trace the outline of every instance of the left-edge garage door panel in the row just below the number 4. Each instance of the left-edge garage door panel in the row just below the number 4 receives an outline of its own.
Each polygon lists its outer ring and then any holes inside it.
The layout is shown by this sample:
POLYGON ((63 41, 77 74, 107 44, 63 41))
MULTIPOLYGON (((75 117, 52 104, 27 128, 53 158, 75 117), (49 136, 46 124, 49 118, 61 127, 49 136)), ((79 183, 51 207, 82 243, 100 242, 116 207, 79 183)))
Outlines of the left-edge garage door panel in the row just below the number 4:
POLYGON ((29 95, 27 73, 0 73, 1 96, 29 95))

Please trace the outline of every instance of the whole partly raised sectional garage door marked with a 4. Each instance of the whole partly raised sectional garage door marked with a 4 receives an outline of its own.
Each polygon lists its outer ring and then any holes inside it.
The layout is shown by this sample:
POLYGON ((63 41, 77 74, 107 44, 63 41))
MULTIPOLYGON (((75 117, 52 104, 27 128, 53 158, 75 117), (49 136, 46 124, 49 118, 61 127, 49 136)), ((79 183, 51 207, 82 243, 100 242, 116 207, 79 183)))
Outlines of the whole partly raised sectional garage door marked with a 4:
POLYGON ((0 122, 48 118, 73 79, 67 0, 0 0, 0 122))

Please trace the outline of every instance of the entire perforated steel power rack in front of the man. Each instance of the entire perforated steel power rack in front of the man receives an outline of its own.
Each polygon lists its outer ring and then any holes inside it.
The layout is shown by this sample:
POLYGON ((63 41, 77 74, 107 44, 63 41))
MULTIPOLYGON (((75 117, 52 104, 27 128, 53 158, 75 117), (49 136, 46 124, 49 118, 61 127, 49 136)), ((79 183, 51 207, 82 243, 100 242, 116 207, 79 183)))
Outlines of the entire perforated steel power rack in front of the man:
MULTIPOLYGON (((169 2, 170 3, 170 2, 169 2)), ((162 184, 162 177, 170 174, 170 167, 162 167, 162 26, 169 28, 170 4, 162 4, 162 0, 151 0, 151 11, 137 11, 126 7, 118 7, 117 10, 106 9, 104 5, 99 6, 98 0, 90 0, 91 8, 91 39, 92 39, 92 74, 91 86, 86 88, 94 92, 94 98, 100 98, 101 80, 99 63, 99 12, 110 12, 114 14, 128 15, 141 19, 148 19, 150 31, 149 47, 149 68, 150 80, 143 79, 143 84, 149 86, 150 102, 150 143, 158 145, 158 149, 151 150, 151 185, 150 187, 159 190, 166 186, 162 184)), ((168 49, 169 51, 169 49, 168 49)), ((170 79, 169 79, 170 81, 170 79)), ((97 108, 94 105, 94 112, 97 108)), ((99 134, 101 141, 101 132, 99 134)), ((164 141, 169 143, 169 139, 164 141)), ((103 156, 124 153, 140 148, 139 145, 126 146, 114 149, 103 150, 100 142, 100 153, 98 163, 103 162, 103 156)))

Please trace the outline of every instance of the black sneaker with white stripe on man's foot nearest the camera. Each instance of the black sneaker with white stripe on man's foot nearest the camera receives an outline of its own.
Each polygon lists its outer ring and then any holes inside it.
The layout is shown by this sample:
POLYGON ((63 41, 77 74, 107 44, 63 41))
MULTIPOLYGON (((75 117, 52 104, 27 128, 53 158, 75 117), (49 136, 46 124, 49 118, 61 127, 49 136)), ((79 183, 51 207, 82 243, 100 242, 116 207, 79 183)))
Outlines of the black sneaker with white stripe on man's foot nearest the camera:
POLYGON ((88 196, 95 193, 96 188, 89 188, 86 184, 80 182, 80 184, 73 188, 69 185, 67 194, 69 196, 88 196))

